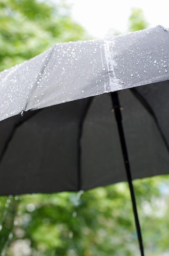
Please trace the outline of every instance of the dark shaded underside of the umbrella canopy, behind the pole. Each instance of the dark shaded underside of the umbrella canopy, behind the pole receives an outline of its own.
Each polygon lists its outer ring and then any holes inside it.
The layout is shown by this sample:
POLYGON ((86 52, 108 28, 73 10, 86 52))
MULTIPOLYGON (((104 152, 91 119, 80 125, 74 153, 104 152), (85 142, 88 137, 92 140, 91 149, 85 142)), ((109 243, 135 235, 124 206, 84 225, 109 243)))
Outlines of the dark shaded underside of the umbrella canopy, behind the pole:
MULTIPOLYGON (((132 177, 168 173, 169 82, 134 90, 119 92, 132 177)), ((0 194, 76 191, 126 180, 111 108, 110 95, 103 94, 1 121, 0 194)))

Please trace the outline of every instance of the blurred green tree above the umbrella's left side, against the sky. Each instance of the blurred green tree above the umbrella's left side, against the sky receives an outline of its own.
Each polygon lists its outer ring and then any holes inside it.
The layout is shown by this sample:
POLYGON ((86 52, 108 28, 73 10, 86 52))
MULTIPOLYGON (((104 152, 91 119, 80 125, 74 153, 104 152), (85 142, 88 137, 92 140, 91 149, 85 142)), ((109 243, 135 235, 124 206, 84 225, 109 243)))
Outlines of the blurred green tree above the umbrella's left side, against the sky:
POLYGON ((38 0, 0 1, 0 71, 44 52, 54 43, 86 39, 66 4, 38 0))

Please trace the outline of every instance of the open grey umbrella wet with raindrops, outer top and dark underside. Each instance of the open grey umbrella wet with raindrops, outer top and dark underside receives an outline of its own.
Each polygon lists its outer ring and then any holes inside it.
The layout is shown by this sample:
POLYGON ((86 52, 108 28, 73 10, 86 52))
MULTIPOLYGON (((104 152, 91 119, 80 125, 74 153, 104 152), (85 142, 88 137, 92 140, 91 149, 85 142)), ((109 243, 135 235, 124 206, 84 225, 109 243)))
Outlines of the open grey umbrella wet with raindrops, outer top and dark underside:
POLYGON ((126 180, 112 101, 115 114, 123 107, 132 177, 168 173, 168 39, 157 26, 56 44, 1 72, 0 194, 126 180))

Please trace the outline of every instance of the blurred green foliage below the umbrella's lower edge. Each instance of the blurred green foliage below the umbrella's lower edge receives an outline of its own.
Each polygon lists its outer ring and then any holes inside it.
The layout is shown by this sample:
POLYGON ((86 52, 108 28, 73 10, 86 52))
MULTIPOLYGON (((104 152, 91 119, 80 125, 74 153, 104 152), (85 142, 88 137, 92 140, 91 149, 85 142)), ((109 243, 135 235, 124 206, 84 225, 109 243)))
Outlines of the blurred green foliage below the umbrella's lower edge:
MULTIPOLYGON (((145 255, 169 249, 168 183, 167 176, 134 181, 145 255)), ((1 197, 0 218, 4 256, 139 255, 125 182, 84 193, 1 197)))

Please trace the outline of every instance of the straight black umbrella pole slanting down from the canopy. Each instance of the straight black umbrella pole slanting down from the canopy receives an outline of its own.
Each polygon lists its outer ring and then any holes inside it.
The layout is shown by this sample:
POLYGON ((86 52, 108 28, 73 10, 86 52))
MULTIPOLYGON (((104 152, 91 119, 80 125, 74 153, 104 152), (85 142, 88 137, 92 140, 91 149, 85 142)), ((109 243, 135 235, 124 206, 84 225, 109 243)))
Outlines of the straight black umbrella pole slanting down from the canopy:
POLYGON ((143 249, 143 242, 142 242, 142 236, 141 236, 141 230, 140 230, 140 224, 138 220, 138 213, 137 213, 137 207, 136 207, 136 199, 134 195, 134 188, 132 184, 132 175, 130 171, 130 166, 129 166, 129 158, 127 154, 127 147, 125 143, 125 136, 124 136, 124 131, 123 131, 123 125, 122 125, 122 115, 121 115, 121 107, 119 104, 119 97, 117 92, 111 92, 111 98, 112 98, 112 105, 116 117, 116 122, 119 130, 119 137, 121 141, 121 148, 123 152, 123 159, 124 159, 124 164, 125 164, 125 170, 127 174, 127 181, 129 184, 129 189, 130 189, 130 194, 132 198, 132 205, 133 205, 133 212, 134 212, 134 219, 136 223, 136 229, 137 229, 137 234, 138 234, 138 242, 140 245, 140 253, 141 256, 144 256, 144 249, 143 249))

